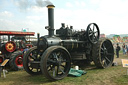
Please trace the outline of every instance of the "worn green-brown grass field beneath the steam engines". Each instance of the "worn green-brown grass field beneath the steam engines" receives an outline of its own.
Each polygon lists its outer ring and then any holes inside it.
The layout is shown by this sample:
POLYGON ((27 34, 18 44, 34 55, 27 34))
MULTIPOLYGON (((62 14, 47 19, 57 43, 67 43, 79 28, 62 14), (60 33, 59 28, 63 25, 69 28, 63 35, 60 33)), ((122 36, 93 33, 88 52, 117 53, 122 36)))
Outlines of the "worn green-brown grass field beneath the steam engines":
POLYGON ((118 66, 106 69, 85 69, 87 74, 81 77, 65 77, 59 81, 49 81, 43 75, 31 76, 26 71, 10 71, 6 78, 0 78, 0 85, 128 85, 127 68, 122 67, 121 59, 128 59, 120 53, 120 58, 114 59, 118 66))

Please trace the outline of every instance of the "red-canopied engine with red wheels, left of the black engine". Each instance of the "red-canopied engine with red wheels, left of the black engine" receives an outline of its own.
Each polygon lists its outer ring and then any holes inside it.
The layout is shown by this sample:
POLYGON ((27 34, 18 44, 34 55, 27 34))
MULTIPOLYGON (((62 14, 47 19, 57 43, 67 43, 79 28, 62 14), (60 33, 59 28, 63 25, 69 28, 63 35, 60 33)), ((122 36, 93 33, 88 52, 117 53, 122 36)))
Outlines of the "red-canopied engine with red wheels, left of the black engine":
POLYGON ((33 36, 34 32, 0 31, 0 65, 9 59, 12 70, 23 69, 23 50, 26 45, 25 36, 33 36))

